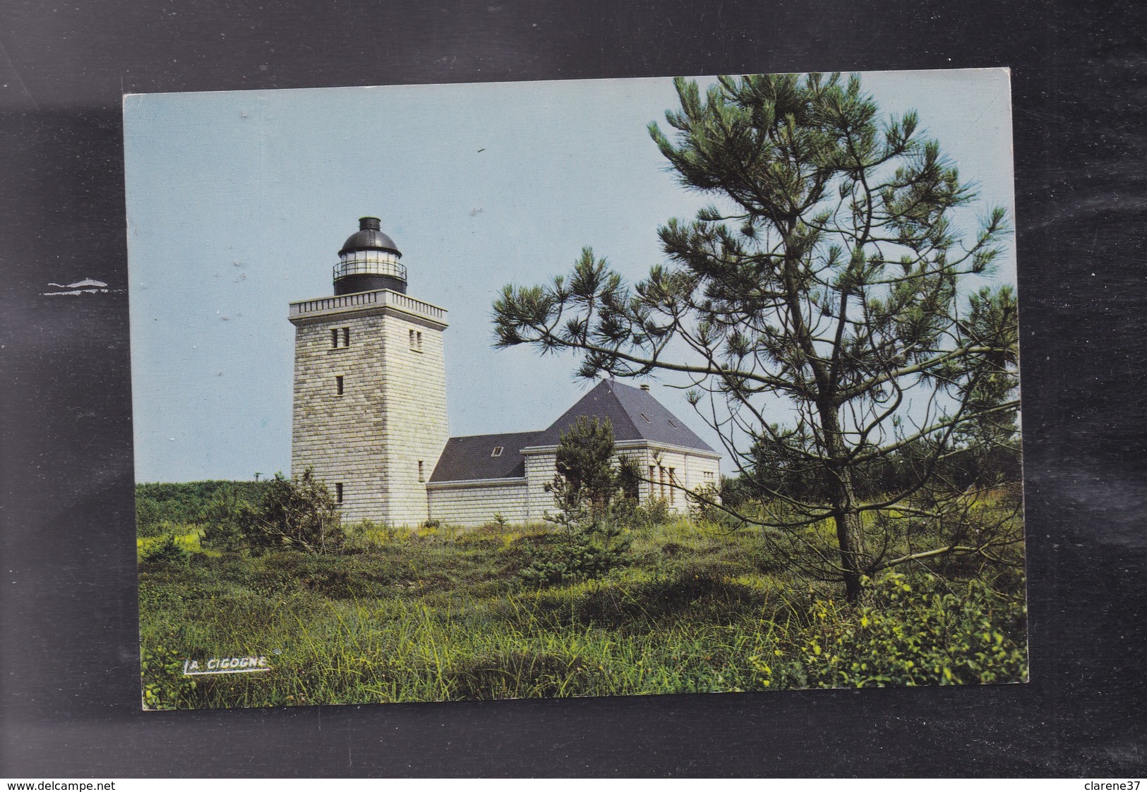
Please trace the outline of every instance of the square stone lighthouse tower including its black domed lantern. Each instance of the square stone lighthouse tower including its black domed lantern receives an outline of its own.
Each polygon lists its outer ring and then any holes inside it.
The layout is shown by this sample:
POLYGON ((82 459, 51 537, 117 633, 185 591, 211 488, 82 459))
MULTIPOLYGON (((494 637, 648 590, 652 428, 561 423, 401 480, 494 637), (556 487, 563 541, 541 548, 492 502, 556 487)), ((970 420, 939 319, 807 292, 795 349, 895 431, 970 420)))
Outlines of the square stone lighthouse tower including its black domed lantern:
POLYGON ((291 303, 291 473, 313 467, 343 520, 415 526, 447 440, 446 311, 406 295, 406 267, 379 219, 338 251, 335 294, 291 303))

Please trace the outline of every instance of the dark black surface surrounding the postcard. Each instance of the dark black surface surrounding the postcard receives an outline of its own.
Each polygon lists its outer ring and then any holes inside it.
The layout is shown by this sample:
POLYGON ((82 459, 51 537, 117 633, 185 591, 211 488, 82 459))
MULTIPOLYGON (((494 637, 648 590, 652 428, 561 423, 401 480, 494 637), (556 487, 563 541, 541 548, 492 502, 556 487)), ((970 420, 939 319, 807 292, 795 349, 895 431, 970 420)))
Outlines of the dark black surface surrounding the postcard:
POLYGON ((489 2, 0 0, 0 776, 1142 775, 1136 3, 489 2), (996 65, 1029 684, 140 712, 123 92, 996 65))

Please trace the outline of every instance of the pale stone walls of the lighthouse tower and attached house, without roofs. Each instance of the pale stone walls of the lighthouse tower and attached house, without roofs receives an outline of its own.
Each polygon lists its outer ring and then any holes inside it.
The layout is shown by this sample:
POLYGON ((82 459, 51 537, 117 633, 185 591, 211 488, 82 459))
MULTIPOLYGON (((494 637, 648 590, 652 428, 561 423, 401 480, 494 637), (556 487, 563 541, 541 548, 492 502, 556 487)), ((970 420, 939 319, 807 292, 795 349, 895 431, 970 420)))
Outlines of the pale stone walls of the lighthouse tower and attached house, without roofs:
MULTIPOLYGON (((322 312, 307 316, 292 306, 291 473, 313 467, 331 494, 341 484, 345 521, 413 527, 436 519, 474 527, 496 514, 510 522, 543 522, 556 511, 545 489, 556 473, 554 449, 525 455, 522 482, 427 487, 448 438, 440 309, 382 292, 311 304, 322 312), (344 309, 349 303, 354 304, 344 309), (420 315, 420 305, 430 313, 420 315)), ((671 481, 689 490, 720 481, 719 459, 685 449, 639 444, 618 452, 635 457, 653 480, 642 482, 641 500, 664 498, 676 512, 687 511, 688 502, 671 481)))

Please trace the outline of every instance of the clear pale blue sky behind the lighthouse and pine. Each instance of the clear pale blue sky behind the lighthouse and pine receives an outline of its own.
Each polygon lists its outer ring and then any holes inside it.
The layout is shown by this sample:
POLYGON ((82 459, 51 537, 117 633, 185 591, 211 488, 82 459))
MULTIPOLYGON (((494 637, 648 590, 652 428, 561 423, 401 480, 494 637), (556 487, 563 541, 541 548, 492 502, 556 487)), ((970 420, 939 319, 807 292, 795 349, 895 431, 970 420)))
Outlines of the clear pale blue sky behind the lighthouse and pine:
MULTIPOLYGON (((977 183, 961 225, 985 205, 1012 216, 1006 70, 861 79, 883 112, 916 109, 977 183)), ((711 201, 674 183, 646 132, 673 107, 669 78, 126 96, 136 480, 289 469, 287 305, 331 293, 364 215, 403 251, 408 293, 450 311, 451 434, 548 426, 588 386, 569 356, 492 349, 491 303, 584 246, 631 280, 661 261, 657 226, 711 201)), ((1011 240, 969 286, 991 280, 1015 282, 1011 240)), ((653 393, 719 448, 681 391, 653 393)))

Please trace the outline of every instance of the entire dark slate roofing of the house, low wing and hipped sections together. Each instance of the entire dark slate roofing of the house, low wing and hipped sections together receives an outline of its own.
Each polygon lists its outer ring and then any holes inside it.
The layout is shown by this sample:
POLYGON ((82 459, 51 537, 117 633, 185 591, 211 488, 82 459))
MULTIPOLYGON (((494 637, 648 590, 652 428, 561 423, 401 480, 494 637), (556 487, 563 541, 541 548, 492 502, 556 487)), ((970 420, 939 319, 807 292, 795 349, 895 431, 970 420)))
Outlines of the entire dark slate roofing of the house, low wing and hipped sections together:
POLYGON ((562 433, 580 416, 608 418, 617 442, 645 440, 716 453, 649 393, 615 380, 602 380, 541 432, 451 437, 438 458, 430 482, 525 477, 522 449, 557 445, 562 433), (502 447, 502 452, 493 457, 491 453, 497 445, 502 447))

